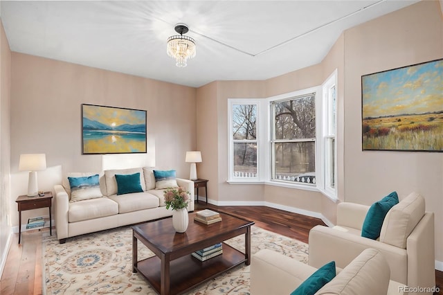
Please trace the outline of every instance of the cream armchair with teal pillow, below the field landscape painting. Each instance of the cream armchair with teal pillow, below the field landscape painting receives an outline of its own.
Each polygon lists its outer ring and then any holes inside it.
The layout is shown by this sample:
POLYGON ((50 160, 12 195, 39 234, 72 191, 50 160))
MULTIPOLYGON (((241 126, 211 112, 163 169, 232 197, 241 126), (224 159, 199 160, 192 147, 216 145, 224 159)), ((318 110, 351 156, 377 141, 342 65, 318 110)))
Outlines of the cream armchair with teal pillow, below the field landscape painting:
POLYGON ((343 268, 373 248, 386 257, 391 280, 410 288, 435 287, 434 213, 425 213, 424 207, 424 198, 411 193, 388 211, 379 239, 371 240, 361 237, 370 207, 338 204, 336 226, 315 226, 309 232, 309 265, 321 267, 335 260, 343 268))

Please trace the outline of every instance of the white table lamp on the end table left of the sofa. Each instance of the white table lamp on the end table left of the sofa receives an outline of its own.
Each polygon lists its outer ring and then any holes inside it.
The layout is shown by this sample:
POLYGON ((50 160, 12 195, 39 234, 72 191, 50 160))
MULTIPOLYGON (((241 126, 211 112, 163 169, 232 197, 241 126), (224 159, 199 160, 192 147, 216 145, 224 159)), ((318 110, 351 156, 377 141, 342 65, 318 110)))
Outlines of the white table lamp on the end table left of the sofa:
POLYGON ((29 171, 28 197, 38 195, 37 171, 46 169, 46 154, 21 154, 19 171, 29 171))

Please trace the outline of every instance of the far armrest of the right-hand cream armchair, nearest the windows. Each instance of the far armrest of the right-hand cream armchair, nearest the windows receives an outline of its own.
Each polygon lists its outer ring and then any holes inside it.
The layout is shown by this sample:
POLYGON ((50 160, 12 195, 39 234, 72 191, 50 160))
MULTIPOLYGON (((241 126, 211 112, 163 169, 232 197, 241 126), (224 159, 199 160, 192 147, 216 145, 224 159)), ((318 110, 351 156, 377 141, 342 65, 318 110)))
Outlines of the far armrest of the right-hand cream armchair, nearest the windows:
POLYGON ((337 225, 361 231, 369 206, 343 202, 337 206, 337 225))

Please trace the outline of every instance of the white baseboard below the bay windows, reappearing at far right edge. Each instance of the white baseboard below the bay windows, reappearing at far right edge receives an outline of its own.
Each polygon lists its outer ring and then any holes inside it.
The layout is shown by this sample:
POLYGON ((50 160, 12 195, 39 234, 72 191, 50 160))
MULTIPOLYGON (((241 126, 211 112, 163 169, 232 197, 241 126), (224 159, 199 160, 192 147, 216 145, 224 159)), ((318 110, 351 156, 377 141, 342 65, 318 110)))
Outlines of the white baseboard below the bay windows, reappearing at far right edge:
MULTIPOLYGON (((206 199, 201 198, 201 201, 203 201, 203 200, 206 200, 206 199)), ((215 206, 266 206, 266 207, 271 207, 271 208, 275 208, 275 209, 280 209, 283 211, 288 211, 288 212, 297 213, 297 214, 301 214, 301 215, 307 215, 310 217, 320 218, 320 220, 323 220, 323 222, 325 222, 325 224, 327 226, 329 226, 329 227, 334 226, 334 224, 332 222, 330 222, 321 213, 314 212, 314 211, 308 211, 308 210, 304 210, 304 209, 300 209, 300 208, 295 208, 295 207, 291 207, 291 206, 284 206, 284 205, 275 204, 275 203, 271 203, 271 202, 260 202, 260 201, 259 202, 247 202, 247 201, 216 202, 216 201, 213 201, 212 199, 208 199, 208 203, 213 204, 215 206)), ((435 269, 437 269, 438 271, 443 271, 443 262, 435 260, 435 269)))

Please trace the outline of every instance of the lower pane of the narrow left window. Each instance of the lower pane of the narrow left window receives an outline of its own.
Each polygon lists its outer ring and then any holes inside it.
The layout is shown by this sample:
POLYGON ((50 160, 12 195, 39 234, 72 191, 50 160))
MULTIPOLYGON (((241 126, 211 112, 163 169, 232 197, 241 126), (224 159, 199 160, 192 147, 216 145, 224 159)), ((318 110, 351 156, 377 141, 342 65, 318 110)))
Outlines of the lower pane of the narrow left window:
POLYGON ((234 176, 257 177, 257 143, 234 143, 234 176))

